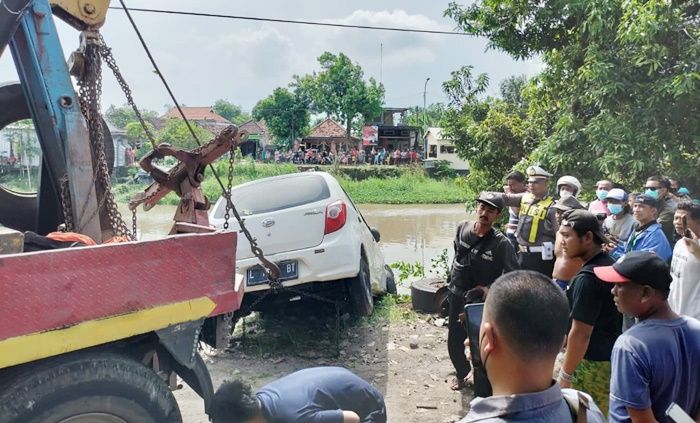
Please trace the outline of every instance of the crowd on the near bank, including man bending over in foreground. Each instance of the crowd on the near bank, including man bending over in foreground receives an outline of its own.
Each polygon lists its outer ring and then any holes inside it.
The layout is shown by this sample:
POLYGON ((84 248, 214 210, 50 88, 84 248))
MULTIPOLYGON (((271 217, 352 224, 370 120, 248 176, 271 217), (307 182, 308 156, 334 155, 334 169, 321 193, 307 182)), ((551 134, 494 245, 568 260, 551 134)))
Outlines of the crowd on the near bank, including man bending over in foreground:
MULTIPOLYGON (((585 204, 576 177, 554 195, 551 177, 539 166, 508 174, 456 228, 450 387, 475 394, 460 422, 680 422, 670 409, 700 422, 700 201, 652 176, 639 192, 601 180, 585 204), (464 322, 471 304, 483 307, 478 334, 464 322)), ((225 383, 211 416, 387 421, 381 393, 331 367, 255 393, 225 383)))

